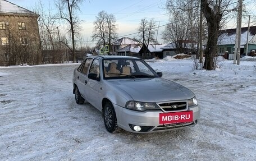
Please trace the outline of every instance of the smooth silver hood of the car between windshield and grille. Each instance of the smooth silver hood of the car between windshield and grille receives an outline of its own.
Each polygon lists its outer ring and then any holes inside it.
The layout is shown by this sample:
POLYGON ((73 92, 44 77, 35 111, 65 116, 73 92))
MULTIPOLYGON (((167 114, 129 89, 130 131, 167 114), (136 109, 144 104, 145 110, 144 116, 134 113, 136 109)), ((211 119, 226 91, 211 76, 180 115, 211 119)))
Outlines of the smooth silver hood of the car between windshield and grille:
POLYGON ((163 78, 109 80, 109 83, 140 102, 188 100, 195 96, 184 86, 163 78))

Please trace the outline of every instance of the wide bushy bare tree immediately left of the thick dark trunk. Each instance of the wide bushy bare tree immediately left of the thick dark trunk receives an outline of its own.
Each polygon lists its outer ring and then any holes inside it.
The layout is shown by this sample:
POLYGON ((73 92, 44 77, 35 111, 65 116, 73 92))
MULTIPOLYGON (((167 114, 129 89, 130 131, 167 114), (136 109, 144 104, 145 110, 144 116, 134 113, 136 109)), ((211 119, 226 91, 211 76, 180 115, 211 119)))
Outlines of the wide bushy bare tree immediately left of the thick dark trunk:
POLYGON ((200 4, 198 1, 167 1, 166 9, 170 15, 162 38, 167 43, 176 45, 177 53, 184 53, 185 48, 199 50, 200 4))

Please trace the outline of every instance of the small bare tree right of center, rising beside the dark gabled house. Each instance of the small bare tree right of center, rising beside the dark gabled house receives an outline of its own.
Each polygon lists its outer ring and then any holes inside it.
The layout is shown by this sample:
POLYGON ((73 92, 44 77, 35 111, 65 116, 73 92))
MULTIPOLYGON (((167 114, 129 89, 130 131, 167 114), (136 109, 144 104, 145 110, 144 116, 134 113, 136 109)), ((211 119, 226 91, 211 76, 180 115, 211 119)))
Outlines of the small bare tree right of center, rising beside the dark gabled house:
POLYGON ((156 39, 154 38, 156 34, 156 22, 154 19, 141 19, 138 27, 138 34, 138 41, 142 44, 143 53, 147 57, 146 52, 148 45, 156 42, 156 39))

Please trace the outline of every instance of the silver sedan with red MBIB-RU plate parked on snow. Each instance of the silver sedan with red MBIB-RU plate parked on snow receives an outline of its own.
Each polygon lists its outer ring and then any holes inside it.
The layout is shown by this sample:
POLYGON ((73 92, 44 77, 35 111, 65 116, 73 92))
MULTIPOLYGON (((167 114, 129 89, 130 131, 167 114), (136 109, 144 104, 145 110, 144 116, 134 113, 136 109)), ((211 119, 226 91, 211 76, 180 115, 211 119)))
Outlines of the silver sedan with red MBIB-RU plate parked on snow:
POLYGON ((194 126, 200 116, 192 91, 140 58, 88 57, 75 68, 73 85, 76 103, 86 100, 102 112, 109 132, 169 131, 194 126))

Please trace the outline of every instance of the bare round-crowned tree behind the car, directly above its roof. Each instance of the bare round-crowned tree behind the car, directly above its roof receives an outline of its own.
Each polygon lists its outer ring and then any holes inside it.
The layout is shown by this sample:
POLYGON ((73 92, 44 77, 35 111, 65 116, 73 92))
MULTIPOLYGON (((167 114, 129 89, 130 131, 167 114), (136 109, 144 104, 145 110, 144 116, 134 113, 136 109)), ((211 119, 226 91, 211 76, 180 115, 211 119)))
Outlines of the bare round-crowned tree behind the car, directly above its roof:
MULTIPOLYGON (((112 45, 117 38, 116 18, 106 11, 100 11, 94 21, 93 40, 97 40, 98 46, 112 45)), ((111 47, 109 48, 111 49, 111 47)))

